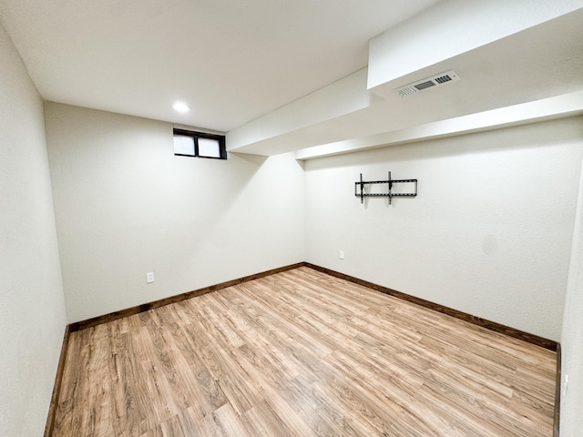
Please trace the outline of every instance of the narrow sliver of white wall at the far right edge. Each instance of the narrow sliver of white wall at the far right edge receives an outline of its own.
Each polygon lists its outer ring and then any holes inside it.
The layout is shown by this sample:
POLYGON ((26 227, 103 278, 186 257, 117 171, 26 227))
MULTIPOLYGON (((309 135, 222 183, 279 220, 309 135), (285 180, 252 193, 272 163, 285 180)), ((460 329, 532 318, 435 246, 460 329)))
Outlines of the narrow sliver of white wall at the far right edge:
POLYGON ((560 435, 564 436, 581 435, 583 430, 583 173, 575 217, 561 336, 560 435))

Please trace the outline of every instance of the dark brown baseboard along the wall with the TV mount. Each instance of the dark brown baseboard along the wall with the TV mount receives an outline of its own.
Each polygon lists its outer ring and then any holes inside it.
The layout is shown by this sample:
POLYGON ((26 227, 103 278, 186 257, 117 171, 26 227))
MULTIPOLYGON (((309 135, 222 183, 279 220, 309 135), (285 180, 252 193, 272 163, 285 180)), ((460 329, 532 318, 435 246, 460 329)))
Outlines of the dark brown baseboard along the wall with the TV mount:
POLYGON ((511 328, 509 326, 503 325, 501 323, 496 323, 496 321, 482 319, 480 317, 473 316, 463 311, 454 310, 453 308, 448 308, 443 305, 439 305, 437 303, 431 302, 429 300, 424 300, 421 298, 416 298, 411 296, 410 294, 405 294, 401 291, 389 289, 387 287, 383 287, 381 285, 373 284, 373 282, 369 282, 367 280, 354 278, 353 276, 345 275, 344 273, 340 273, 338 271, 332 269, 326 269, 325 267, 316 266, 311 263, 304 263, 306 267, 309 267, 314 270, 321 271, 322 273, 329 274, 331 276, 335 276, 336 278, 346 279, 350 282, 355 284, 363 285, 364 287, 368 287, 369 289, 381 291, 384 294, 389 294, 394 296, 395 298, 399 298, 402 300, 407 300, 408 302, 415 303, 417 305, 421 305, 422 307, 428 308, 430 310, 435 310, 448 316, 455 317, 456 319, 465 320, 475 325, 481 326, 488 330, 494 330, 501 334, 505 334, 509 337, 513 337, 519 340, 525 340, 529 343, 535 344, 540 346, 541 348, 548 349, 550 351, 557 351, 557 341, 555 340, 548 340, 543 337, 539 337, 535 334, 530 334, 525 332, 524 330, 517 330, 516 328, 511 328))

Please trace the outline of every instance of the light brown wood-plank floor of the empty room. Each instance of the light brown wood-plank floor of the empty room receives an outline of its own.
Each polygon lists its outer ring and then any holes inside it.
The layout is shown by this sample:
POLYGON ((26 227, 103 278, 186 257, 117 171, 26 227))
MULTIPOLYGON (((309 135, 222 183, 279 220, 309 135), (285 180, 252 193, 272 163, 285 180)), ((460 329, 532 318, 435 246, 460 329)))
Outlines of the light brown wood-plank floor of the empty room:
POLYGON ((551 436, 556 354, 302 267, 71 334, 54 436, 551 436))

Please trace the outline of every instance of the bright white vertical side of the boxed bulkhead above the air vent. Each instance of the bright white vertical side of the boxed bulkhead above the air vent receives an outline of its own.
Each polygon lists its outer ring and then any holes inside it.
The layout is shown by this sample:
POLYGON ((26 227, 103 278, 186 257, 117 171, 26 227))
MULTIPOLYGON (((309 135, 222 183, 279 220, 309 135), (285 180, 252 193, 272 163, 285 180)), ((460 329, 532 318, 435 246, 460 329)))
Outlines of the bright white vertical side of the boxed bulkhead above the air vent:
POLYGON ((368 89, 384 97, 378 89, 391 92, 397 79, 581 7, 583 0, 443 0, 370 41, 368 89))

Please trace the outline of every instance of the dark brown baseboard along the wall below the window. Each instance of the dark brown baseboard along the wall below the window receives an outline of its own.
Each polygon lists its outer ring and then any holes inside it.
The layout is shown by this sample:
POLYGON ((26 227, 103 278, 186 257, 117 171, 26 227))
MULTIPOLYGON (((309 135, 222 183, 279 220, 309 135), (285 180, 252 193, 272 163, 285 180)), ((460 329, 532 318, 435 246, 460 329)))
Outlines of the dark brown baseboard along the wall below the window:
POLYGON ((281 271, 297 269, 298 267, 302 267, 305 265, 303 262, 299 262, 297 264, 292 264, 285 267, 280 267, 278 269, 271 269, 267 271, 263 271, 261 273, 256 273, 254 275, 245 276, 240 279, 232 279, 226 282, 221 282, 220 284, 211 285, 210 287, 205 287, 203 289, 188 291, 186 293, 177 294, 176 296, 170 296, 169 298, 164 298, 160 300, 154 300, 153 302, 143 303, 138 305, 137 307, 127 308, 125 310, 118 310, 114 312, 110 312, 109 314, 104 314, 103 316, 97 316, 92 319, 76 321, 69 325, 71 332, 75 332, 76 330, 85 330, 86 328, 92 328, 94 326, 100 325, 102 323, 107 323, 108 321, 123 319, 124 317, 133 316, 135 314, 139 314, 140 312, 152 310, 154 308, 164 307, 171 303, 176 303, 182 300, 187 300, 190 298, 196 298, 197 296, 202 296, 203 294, 210 293, 212 291, 226 289, 228 287, 232 287, 233 285, 240 284, 242 282, 247 282, 253 279, 260 279, 266 276, 274 275, 275 273, 280 273, 281 271))

